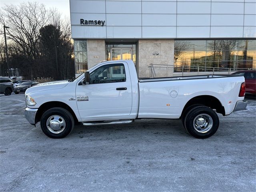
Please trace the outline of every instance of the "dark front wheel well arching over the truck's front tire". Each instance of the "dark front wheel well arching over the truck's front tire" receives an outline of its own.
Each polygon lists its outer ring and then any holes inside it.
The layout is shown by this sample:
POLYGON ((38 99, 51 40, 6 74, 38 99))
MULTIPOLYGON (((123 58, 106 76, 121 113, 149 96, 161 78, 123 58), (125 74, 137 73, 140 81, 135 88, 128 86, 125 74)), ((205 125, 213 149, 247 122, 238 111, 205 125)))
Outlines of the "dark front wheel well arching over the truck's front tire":
POLYGON ((38 108, 38 111, 36 112, 36 119, 35 119, 36 123, 40 121, 44 112, 46 112, 48 109, 54 108, 54 107, 61 107, 61 108, 68 110, 72 114, 75 123, 78 123, 78 119, 76 118, 76 115, 75 115, 74 111, 70 108, 70 106, 68 106, 67 104, 65 104, 63 102, 59 102, 59 101, 51 101, 51 102, 42 104, 38 108))

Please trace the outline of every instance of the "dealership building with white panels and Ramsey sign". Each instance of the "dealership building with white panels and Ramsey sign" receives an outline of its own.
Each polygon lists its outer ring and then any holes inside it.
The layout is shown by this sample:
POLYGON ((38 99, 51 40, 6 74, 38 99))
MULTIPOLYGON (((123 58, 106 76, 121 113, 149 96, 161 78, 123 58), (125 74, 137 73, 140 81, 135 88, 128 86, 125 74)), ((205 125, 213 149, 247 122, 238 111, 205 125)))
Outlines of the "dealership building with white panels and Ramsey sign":
POLYGON ((130 59, 139 77, 256 68, 256 0, 70 0, 76 73, 130 59))

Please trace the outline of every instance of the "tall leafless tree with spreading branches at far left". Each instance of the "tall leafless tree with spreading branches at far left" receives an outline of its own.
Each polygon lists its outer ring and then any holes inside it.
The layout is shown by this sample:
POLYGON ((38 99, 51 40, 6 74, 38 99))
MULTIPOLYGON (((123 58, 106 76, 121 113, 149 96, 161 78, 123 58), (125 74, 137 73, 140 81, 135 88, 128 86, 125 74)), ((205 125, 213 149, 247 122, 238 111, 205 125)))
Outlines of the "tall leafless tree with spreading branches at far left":
POLYGON ((48 12, 43 4, 37 2, 6 5, 3 10, 0 24, 10 27, 6 36, 21 48, 20 51, 28 60, 32 79, 34 61, 40 56, 39 31, 48 22, 48 12))

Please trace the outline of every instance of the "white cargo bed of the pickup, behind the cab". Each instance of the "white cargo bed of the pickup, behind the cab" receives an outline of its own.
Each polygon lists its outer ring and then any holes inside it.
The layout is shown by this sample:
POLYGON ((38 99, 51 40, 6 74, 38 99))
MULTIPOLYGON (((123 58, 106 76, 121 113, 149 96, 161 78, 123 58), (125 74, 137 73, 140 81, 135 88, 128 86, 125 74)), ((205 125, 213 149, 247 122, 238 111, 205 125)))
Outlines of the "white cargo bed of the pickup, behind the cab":
POLYGON ((240 99, 242 82, 243 76, 234 75, 139 79, 138 118, 180 118, 184 104, 202 95, 217 98, 228 115, 240 99))

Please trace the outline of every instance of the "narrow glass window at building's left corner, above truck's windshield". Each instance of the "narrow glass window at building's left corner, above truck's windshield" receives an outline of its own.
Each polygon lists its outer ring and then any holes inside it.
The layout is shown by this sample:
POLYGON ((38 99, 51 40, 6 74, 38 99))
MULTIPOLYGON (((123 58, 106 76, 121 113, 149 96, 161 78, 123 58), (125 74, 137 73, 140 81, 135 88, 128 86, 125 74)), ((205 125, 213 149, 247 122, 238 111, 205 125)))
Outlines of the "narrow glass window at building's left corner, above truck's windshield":
POLYGON ((86 40, 74 40, 76 73, 84 73, 88 69, 86 40))

